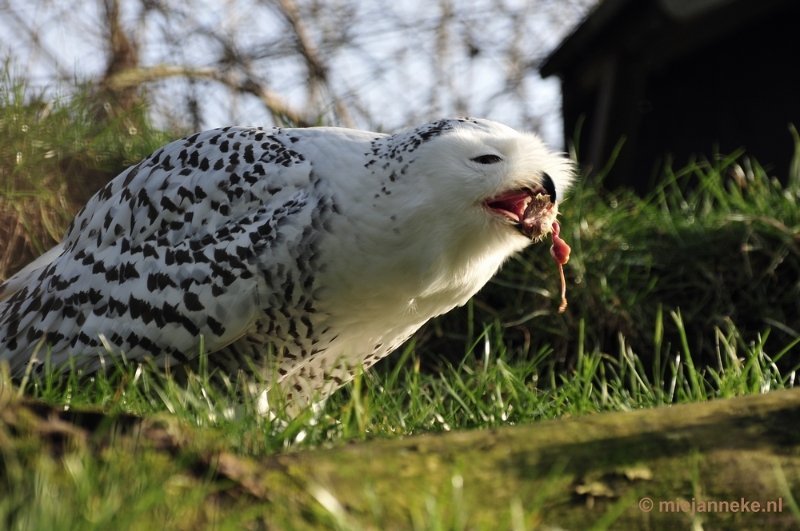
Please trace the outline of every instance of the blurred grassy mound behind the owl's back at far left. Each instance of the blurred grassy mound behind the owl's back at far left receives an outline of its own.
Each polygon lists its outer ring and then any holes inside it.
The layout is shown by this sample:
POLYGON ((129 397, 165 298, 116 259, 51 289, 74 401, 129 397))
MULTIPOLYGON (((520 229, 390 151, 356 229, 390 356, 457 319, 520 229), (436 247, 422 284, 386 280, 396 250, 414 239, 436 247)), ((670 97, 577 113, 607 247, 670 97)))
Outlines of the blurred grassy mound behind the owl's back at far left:
POLYGON ((103 185, 177 133, 137 107, 98 120, 86 84, 55 99, 34 92, 6 62, 0 81, 0 279, 57 243, 103 185))

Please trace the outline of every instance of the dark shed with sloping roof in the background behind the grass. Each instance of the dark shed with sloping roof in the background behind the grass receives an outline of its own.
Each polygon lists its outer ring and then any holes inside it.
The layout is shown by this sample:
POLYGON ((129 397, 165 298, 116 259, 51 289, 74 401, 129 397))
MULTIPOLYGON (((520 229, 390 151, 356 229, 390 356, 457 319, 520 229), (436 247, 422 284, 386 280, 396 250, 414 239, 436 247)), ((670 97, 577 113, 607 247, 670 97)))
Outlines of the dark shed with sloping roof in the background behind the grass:
POLYGON ((561 78, 565 140, 606 186, 652 186, 683 165, 744 147, 786 179, 800 128, 799 0, 603 0, 541 67, 561 78))

